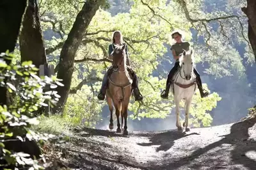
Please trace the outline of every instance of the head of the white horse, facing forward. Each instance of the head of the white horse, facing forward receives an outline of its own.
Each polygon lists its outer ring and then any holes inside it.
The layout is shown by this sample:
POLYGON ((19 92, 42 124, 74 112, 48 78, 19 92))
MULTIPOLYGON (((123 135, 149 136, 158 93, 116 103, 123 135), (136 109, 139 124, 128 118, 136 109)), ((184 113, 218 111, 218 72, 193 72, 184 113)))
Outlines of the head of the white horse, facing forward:
POLYGON ((194 56, 193 56, 193 50, 184 50, 184 52, 181 54, 180 58, 180 66, 181 69, 184 72, 184 77, 186 80, 190 80, 191 78, 194 78, 195 75, 193 73, 194 69, 194 56))

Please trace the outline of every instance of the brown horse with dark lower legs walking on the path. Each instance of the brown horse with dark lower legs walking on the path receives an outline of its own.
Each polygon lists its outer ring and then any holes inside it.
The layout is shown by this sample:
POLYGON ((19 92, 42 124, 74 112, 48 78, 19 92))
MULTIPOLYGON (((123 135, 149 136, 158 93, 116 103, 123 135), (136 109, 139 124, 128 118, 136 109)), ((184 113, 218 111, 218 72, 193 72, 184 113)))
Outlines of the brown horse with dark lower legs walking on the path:
POLYGON ((119 116, 122 118, 122 129, 124 128, 124 135, 128 135, 127 131, 127 117, 128 105, 132 94, 132 79, 127 71, 125 45, 116 46, 113 52, 113 73, 109 76, 108 90, 106 99, 110 111, 109 129, 113 129, 113 105, 116 111, 117 133, 121 133, 119 116), (113 105, 112 105, 113 102, 113 105))

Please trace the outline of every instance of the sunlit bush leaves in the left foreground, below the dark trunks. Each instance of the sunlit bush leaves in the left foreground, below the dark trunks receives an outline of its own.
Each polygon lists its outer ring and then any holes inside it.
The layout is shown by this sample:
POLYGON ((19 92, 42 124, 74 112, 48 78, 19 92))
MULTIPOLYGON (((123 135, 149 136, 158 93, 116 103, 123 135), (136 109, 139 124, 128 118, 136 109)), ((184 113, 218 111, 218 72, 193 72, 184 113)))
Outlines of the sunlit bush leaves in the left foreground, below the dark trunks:
MULTIPOLYGON (((15 153, 4 148, 4 144, 8 141, 48 140, 51 135, 40 135, 30 130, 31 125, 38 124, 35 118, 35 112, 45 102, 54 105, 60 97, 56 91, 51 89, 62 84, 57 79, 44 77, 40 79, 36 75, 38 68, 32 65, 31 61, 23 62, 22 65, 7 65, 6 59, 12 59, 13 54, 1 54, 0 60, 0 81, 1 86, 6 87, 9 93, 14 93, 18 100, 12 105, 0 105, 0 123, 1 123, 1 155, 3 160, 8 164, 13 164, 17 167, 31 166, 34 169, 41 168, 38 162, 29 158, 31 155, 27 153, 15 153), (50 90, 45 91, 49 87, 50 90)), ((4 166, 4 165, 3 165, 4 166)))

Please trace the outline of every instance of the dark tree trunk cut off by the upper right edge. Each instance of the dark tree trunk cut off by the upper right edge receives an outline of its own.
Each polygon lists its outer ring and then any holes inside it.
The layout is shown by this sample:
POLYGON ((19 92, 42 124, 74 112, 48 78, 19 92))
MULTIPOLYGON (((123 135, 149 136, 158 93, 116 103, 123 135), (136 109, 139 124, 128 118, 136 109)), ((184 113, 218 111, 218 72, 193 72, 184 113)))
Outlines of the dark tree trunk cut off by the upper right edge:
POLYGON ((247 7, 243 7, 242 11, 248 17, 248 38, 256 61, 256 1, 247 0, 247 7))

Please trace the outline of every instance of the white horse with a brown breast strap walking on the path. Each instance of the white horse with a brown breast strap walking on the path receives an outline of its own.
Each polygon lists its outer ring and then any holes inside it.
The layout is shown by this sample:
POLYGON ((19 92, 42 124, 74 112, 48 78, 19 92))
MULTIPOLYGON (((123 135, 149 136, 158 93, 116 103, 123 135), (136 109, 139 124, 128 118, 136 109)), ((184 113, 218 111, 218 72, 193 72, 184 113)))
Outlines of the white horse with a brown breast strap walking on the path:
POLYGON ((178 130, 182 130, 180 125, 180 100, 184 99, 186 118, 185 122, 183 123, 183 127, 186 127, 186 132, 188 132, 190 130, 188 128, 189 107, 196 90, 195 74, 193 72, 193 50, 184 51, 179 58, 179 64, 180 69, 173 76, 173 84, 171 86, 174 96, 174 103, 176 105, 176 127, 178 130))

